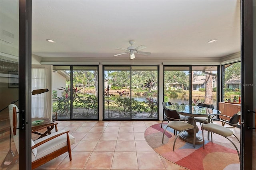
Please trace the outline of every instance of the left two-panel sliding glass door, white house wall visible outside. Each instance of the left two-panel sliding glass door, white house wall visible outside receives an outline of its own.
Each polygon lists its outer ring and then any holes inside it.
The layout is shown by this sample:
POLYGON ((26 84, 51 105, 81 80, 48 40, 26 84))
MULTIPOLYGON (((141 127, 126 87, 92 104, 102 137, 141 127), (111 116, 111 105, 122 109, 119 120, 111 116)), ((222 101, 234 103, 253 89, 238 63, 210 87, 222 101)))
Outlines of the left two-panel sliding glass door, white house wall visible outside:
POLYGON ((98 66, 53 66, 52 89, 58 118, 98 119, 98 66))

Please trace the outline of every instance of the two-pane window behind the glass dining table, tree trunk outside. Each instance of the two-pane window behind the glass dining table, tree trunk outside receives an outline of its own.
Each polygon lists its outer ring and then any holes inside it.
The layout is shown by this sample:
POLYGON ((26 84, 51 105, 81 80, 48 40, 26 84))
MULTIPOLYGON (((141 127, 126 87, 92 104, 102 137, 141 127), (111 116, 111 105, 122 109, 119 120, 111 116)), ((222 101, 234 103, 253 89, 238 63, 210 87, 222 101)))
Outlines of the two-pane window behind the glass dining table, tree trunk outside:
POLYGON ((217 108, 217 66, 164 66, 164 102, 213 104, 217 108))

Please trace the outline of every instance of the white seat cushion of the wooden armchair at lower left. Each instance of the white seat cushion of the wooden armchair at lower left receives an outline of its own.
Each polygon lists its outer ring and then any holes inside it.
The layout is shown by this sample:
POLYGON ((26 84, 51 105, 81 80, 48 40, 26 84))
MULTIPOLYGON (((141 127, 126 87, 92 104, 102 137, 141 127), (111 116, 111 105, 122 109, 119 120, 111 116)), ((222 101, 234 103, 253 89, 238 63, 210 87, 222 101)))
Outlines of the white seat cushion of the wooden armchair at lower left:
MULTIPOLYGON (((60 134, 62 132, 65 132, 65 130, 60 130, 56 133, 52 133, 50 135, 44 136, 43 138, 40 138, 38 140, 35 140, 34 143, 38 144, 39 142, 50 138, 56 134, 60 134)), ((72 136, 71 134, 69 134, 69 139, 70 139, 70 145, 75 143, 75 138, 74 136, 72 136)), ((62 134, 61 136, 58 136, 57 138, 54 138, 40 146, 37 147, 37 154, 36 154, 36 159, 42 158, 64 146, 67 146, 67 135, 66 134, 62 134)))

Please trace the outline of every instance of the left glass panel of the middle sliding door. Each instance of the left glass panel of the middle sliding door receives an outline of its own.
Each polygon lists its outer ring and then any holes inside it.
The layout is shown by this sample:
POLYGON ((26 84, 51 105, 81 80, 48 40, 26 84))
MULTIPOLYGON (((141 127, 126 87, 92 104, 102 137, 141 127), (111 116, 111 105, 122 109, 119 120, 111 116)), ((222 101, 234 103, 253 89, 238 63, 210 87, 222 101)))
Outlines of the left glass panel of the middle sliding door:
POLYGON ((104 67, 104 119, 130 119, 130 66, 104 67))

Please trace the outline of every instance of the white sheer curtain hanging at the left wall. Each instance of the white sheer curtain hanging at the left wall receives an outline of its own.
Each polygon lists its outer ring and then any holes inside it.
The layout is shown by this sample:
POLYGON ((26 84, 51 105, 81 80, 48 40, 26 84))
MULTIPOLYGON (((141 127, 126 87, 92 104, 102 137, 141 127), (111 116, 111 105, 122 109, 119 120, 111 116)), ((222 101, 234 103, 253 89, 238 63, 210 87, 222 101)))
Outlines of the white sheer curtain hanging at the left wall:
MULTIPOLYGON (((32 67, 32 90, 46 88, 47 68, 32 67)), ((47 93, 47 92, 46 92, 47 93)), ((49 118, 48 104, 46 93, 32 95, 31 98, 31 117, 32 118, 49 118)))

